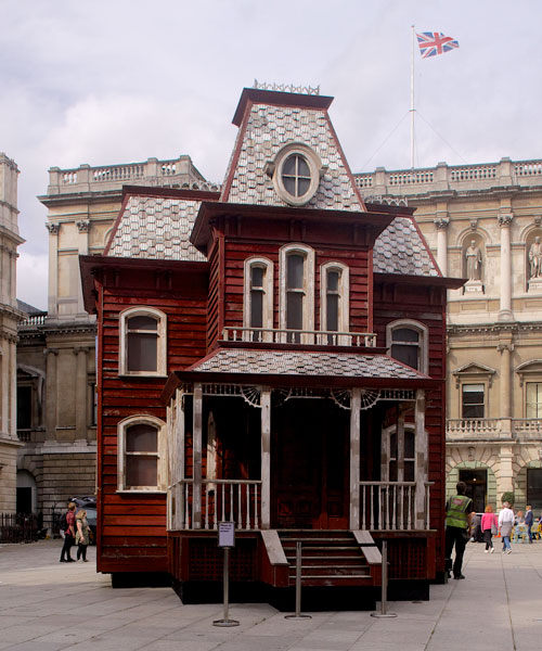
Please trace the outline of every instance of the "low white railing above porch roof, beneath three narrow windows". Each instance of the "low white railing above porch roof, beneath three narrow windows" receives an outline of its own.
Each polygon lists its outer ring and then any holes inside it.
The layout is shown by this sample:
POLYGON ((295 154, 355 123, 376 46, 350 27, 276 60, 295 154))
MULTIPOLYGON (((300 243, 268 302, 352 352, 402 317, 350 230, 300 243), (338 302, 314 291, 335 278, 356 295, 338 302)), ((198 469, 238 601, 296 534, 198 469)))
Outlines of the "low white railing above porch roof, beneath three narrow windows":
POLYGON ((286 330, 280 328, 224 328, 225 342, 251 342, 272 344, 305 344, 313 346, 376 346, 372 332, 332 332, 323 330, 286 330))

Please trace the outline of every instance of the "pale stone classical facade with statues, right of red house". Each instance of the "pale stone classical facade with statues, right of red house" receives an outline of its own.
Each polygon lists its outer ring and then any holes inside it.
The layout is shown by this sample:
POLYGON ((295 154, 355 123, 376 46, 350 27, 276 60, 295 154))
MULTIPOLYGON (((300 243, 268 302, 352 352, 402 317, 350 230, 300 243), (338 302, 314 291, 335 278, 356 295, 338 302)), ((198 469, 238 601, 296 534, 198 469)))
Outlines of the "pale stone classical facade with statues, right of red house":
POLYGON ((449 490, 459 477, 476 508, 513 490, 542 509, 542 162, 357 175, 365 197, 406 202, 449 292, 449 490))

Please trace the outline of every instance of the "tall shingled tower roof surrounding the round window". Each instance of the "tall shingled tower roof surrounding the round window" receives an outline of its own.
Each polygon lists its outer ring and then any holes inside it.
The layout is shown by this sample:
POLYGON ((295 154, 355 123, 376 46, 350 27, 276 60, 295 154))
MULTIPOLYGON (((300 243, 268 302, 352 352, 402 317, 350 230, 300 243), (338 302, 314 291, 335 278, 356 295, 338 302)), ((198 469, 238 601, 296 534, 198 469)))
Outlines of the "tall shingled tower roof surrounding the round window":
MULTIPOLYGON (((318 153, 327 170, 306 207, 362 210, 356 184, 348 175, 336 139, 323 111, 292 106, 254 104, 244 135, 240 132, 240 155, 228 196, 222 201, 284 206, 264 166, 288 143, 298 142, 318 153)), ((235 151, 235 150, 234 150, 235 151)), ((230 167, 234 157, 230 161, 230 167)))

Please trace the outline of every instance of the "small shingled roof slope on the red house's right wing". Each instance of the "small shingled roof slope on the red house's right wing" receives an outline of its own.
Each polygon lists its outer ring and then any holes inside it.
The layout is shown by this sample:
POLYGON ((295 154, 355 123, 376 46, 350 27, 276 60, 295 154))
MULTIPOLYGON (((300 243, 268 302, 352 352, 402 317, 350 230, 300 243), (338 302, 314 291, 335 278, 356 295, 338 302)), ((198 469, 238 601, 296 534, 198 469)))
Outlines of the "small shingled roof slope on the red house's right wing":
POLYGON ((373 248, 373 270, 408 276, 439 275, 410 217, 396 217, 380 233, 373 248))

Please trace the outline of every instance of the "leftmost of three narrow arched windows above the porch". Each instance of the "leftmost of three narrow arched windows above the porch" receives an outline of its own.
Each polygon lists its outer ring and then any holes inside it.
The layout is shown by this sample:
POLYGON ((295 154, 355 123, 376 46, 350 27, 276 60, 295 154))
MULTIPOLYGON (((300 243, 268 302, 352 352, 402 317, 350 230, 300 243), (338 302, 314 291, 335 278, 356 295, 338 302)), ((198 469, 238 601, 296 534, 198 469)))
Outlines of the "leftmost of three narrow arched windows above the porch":
POLYGON ((244 328, 254 329, 249 341, 271 341, 273 328, 273 263, 267 258, 245 260, 244 328))

